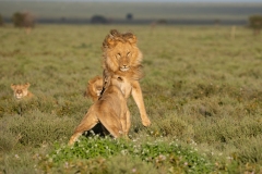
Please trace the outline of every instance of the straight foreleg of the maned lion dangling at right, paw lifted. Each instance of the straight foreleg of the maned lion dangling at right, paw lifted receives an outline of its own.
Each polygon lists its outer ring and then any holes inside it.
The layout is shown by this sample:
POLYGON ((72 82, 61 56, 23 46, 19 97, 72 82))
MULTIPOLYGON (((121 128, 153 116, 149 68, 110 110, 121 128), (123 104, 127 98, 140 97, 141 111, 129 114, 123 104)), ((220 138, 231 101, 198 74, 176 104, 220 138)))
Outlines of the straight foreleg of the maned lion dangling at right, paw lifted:
POLYGON ((141 90, 141 87, 140 87, 140 84, 138 80, 132 82, 132 96, 133 96, 134 102, 139 107, 142 124, 144 126, 150 126, 151 121, 145 111, 143 95, 142 95, 142 90, 141 90))

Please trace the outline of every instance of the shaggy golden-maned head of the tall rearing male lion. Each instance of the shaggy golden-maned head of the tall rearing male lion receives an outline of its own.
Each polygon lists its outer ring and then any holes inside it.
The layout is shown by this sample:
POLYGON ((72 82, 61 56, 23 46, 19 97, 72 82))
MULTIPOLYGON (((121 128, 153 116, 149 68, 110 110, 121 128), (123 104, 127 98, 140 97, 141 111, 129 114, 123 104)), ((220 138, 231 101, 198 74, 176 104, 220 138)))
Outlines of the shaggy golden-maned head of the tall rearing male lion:
POLYGON ((142 53, 136 47, 136 37, 131 33, 110 30, 103 42, 104 69, 128 72, 141 64, 142 53))

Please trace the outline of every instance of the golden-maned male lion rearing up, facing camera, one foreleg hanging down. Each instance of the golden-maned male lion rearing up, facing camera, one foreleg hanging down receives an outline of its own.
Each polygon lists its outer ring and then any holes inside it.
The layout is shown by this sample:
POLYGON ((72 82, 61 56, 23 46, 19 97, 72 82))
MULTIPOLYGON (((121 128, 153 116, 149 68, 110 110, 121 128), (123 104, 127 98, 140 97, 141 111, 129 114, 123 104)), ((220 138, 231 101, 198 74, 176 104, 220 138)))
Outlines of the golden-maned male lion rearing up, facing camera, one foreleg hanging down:
POLYGON ((142 90, 139 80, 142 78, 142 53, 136 47, 136 37, 131 33, 121 34, 116 29, 110 30, 103 42, 103 80, 104 88, 110 76, 118 74, 128 77, 131 85, 130 91, 126 91, 124 97, 129 98, 130 94, 139 108, 142 124, 150 126, 151 121, 147 117, 142 90))

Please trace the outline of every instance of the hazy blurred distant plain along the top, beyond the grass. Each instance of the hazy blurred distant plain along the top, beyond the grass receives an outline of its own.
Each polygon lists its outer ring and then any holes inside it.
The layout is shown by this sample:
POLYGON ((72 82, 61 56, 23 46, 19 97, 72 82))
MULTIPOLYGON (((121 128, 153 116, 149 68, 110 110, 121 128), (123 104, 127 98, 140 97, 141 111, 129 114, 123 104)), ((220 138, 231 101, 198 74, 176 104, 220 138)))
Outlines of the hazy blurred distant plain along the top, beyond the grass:
MULTIPOLYGON (((1 23, 19 13, 28 21, 61 24, 247 25, 261 0, 1 0, 1 23)), ((20 17, 21 18, 21 17, 20 17)), ((22 25, 22 24, 21 24, 22 25)), ((27 24, 28 25, 28 24, 27 24)))

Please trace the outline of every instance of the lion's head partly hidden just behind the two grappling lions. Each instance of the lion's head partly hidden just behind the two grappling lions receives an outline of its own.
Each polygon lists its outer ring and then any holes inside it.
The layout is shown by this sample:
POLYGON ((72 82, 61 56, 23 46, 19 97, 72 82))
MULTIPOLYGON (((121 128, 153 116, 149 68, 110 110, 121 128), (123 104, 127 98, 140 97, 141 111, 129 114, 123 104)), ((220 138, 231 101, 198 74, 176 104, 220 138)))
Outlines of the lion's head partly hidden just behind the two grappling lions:
POLYGON ((84 96, 90 97, 93 100, 93 102, 95 102, 96 100, 98 100, 102 89, 103 89, 103 77, 95 76, 88 80, 84 96))

